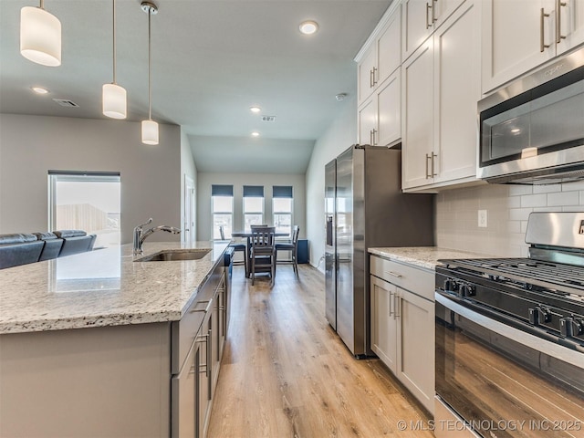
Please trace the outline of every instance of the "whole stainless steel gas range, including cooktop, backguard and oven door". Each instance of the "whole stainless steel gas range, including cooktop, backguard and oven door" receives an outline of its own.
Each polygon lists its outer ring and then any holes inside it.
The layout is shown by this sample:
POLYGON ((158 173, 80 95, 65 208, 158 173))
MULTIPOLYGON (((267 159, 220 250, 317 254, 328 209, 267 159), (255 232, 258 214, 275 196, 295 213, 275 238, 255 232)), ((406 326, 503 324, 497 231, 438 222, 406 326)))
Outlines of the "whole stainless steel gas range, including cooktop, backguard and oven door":
POLYGON ((532 213, 526 241, 436 267, 437 437, 584 436, 584 214, 532 213))

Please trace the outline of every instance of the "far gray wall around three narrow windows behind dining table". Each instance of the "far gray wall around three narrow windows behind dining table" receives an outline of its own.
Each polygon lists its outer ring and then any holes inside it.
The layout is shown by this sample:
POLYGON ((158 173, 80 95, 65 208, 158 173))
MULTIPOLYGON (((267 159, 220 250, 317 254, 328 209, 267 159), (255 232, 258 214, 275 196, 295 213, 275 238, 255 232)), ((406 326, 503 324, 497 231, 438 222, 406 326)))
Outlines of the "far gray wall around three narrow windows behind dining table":
MULTIPOLYGON (((263 185, 265 196, 264 217, 272 223, 272 186, 291 185, 294 190, 294 211, 292 221, 300 226, 300 238, 306 236, 306 198, 304 175, 262 174, 262 173, 206 173, 197 174, 197 236, 199 240, 211 239, 211 185, 233 184, 234 186, 234 227, 243 229, 244 215, 242 191, 244 185, 263 185)), ((310 243, 309 243, 310 245, 310 243)))

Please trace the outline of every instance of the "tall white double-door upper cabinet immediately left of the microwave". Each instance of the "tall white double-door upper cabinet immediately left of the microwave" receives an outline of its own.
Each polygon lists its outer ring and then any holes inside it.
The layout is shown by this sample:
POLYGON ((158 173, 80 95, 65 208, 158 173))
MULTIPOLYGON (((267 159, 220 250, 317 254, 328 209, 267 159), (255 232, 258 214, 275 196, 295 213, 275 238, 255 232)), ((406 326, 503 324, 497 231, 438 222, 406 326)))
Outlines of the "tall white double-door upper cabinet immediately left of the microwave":
POLYGON ((478 8, 466 1, 402 65, 404 191, 475 180, 478 8))

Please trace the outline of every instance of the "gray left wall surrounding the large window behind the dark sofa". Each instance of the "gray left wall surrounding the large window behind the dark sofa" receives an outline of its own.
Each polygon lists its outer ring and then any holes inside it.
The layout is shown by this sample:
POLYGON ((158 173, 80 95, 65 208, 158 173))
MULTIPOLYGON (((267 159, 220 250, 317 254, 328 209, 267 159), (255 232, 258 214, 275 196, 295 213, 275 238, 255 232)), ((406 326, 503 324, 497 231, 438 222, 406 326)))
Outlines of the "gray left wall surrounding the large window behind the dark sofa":
POLYGON ((160 130, 160 144, 146 146, 140 122, 0 114, 0 233, 47 230, 49 169, 120 172, 122 243, 149 217, 180 227, 181 131, 160 130))

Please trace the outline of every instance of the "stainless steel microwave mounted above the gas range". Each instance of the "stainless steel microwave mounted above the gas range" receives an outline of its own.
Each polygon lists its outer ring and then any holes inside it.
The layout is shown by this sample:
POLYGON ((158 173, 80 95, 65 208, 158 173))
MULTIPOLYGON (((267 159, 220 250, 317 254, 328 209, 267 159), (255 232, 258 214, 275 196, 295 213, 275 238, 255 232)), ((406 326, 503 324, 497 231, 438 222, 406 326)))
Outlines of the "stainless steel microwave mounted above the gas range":
POLYGON ((478 118, 479 178, 584 179, 584 47, 480 100, 478 118))

